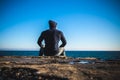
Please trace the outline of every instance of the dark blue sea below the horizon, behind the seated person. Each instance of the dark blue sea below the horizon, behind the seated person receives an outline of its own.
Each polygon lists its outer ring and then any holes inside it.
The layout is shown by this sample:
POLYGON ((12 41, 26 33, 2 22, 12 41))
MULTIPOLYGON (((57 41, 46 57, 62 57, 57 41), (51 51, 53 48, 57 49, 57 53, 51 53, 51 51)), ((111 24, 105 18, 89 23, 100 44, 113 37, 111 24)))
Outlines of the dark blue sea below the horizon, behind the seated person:
MULTIPOLYGON (((0 56, 38 56, 39 51, 0 51, 0 56)), ((66 51, 66 56, 95 57, 104 60, 120 59, 120 51, 66 51)))

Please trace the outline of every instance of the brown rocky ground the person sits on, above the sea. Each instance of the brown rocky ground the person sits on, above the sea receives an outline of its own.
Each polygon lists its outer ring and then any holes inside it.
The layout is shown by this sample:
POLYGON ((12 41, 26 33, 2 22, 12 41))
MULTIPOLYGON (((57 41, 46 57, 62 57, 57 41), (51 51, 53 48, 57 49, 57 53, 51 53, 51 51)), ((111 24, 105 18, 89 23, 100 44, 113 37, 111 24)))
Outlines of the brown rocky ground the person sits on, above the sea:
POLYGON ((119 80, 120 60, 1 56, 0 80, 119 80))

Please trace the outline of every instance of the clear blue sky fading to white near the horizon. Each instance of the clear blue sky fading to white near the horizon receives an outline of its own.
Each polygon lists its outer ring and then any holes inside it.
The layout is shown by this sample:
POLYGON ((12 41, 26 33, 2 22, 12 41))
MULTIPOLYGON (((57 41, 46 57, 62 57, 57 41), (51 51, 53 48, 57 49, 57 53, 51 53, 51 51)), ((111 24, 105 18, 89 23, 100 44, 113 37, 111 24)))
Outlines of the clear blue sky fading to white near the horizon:
POLYGON ((49 19, 66 50, 120 50, 120 0, 0 0, 0 49, 39 50, 49 19))

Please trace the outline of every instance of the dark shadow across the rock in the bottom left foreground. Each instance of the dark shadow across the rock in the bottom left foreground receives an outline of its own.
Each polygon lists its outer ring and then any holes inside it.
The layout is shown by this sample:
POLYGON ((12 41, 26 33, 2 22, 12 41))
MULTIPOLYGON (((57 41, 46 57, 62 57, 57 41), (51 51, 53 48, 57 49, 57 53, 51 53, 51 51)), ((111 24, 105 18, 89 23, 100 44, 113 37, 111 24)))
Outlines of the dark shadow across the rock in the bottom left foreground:
POLYGON ((32 68, 0 68, 0 80, 68 80, 54 75, 38 74, 38 70, 32 68))

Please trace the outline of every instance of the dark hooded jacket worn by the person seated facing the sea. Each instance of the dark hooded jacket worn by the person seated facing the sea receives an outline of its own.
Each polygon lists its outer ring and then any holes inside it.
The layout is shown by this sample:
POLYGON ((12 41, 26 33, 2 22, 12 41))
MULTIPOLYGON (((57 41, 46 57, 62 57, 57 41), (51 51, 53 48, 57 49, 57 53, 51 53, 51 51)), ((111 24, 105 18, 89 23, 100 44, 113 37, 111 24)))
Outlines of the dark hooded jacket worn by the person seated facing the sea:
POLYGON ((38 44, 42 47, 42 41, 45 41, 44 55, 54 56, 59 52, 59 47, 64 47, 66 45, 66 40, 63 33, 56 29, 56 23, 49 21, 50 29, 43 31, 38 39, 38 44), (59 41, 62 44, 59 46, 59 41))

